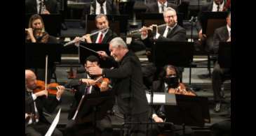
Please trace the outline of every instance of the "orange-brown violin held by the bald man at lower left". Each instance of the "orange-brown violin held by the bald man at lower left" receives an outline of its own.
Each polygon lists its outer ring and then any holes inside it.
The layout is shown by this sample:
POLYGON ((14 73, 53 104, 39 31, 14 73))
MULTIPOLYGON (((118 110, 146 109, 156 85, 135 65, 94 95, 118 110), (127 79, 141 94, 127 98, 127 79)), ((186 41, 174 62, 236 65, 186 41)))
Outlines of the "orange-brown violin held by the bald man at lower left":
MULTIPOLYGON (((33 90, 33 93, 37 93, 39 91, 45 90, 46 89, 45 84, 46 84, 45 82, 43 82, 41 80, 37 80, 36 81, 36 89, 33 90)), ((56 95, 56 93, 58 91, 58 89, 56 88, 57 86, 59 86, 58 83, 47 84, 47 91, 48 91, 48 93, 56 95)), ((72 93, 74 93, 76 90, 75 89, 65 88, 65 91, 71 91, 72 93)))

